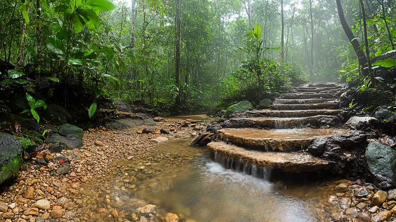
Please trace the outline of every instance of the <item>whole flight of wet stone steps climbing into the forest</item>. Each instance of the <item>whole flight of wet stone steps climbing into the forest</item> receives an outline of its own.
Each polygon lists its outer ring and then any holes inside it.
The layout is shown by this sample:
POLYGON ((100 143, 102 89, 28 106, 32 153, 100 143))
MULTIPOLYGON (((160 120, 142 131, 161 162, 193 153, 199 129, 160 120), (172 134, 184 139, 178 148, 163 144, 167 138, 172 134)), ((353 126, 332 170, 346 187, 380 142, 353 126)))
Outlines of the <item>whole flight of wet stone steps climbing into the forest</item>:
POLYGON ((329 170, 335 163, 313 157, 305 150, 315 138, 349 133, 340 129, 337 83, 290 87, 270 109, 232 115, 218 130, 219 142, 208 150, 226 168, 249 174, 257 168, 287 173, 329 170))

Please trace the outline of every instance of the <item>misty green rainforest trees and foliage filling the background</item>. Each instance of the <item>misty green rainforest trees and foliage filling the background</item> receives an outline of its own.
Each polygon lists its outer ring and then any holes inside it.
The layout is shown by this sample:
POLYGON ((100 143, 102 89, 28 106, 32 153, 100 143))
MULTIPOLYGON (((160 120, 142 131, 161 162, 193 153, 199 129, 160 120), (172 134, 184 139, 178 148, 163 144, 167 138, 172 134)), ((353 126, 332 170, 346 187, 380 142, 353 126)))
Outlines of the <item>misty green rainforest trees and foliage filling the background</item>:
MULTIPOLYGON (((337 1, 369 58, 394 50, 393 1, 337 1)), ((335 0, 5 0, 0 12, 5 100, 27 92, 65 107, 112 98, 193 109, 365 77, 335 0)))

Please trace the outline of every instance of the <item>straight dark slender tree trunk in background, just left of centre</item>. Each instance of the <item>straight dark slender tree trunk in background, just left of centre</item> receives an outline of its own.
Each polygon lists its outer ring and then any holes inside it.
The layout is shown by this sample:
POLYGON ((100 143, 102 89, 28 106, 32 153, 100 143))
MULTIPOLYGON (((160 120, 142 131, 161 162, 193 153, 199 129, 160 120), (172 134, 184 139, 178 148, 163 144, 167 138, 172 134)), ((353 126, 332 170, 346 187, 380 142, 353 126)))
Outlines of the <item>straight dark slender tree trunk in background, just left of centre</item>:
MULTIPOLYGON (((176 35, 175 35, 175 82, 176 86, 180 89, 179 76, 180 76, 180 12, 181 0, 176 0, 176 35)), ((177 93, 176 104, 180 104, 180 91, 177 93)))

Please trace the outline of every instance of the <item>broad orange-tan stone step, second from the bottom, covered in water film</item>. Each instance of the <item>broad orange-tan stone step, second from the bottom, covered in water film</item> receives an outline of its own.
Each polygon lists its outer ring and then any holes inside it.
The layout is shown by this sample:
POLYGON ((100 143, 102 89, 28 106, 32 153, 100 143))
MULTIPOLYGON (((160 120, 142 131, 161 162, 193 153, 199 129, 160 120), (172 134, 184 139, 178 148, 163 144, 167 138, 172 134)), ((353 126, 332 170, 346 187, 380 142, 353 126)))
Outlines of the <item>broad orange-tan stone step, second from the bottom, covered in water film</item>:
POLYGON ((291 152, 308 148, 318 137, 348 133, 335 129, 256 130, 222 129, 218 136, 227 142, 261 151, 291 152))

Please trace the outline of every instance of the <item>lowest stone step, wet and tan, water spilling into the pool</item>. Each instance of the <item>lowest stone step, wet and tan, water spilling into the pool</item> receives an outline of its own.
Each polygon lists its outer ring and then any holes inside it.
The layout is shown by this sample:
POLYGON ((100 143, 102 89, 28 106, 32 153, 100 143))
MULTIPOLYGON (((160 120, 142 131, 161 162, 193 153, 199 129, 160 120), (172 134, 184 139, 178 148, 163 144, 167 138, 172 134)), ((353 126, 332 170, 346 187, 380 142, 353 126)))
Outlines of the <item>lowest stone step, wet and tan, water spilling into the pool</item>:
POLYGON ((311 156, 308 153, 280 153, 280 152, 260 152, 246 150, 236 145, 225 142, 211 142, 208 149, 215 156, 215 161, 228 169, 242 171, 248 165, 254 165, 264 169, 279 169, 286 173, 315 172, 328 170, 334 166, 333 162, 326 162, 320 158, 311 156), (229 158, 233 161, 224 161, 222 158, 229 158), (241 163, 242 162, 242 163, 241 163))

